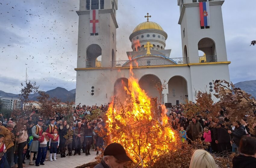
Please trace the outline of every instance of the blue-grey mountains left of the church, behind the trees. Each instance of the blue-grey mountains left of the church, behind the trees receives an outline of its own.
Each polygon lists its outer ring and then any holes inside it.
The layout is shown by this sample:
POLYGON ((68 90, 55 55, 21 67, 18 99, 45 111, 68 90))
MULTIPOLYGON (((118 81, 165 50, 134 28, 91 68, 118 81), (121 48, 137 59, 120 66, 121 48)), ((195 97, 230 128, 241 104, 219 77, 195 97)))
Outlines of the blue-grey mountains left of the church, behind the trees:
MULTIPOLYGON (((46 93, 50 96, 50 98, 56 97, 60 99, 62 102, 75 101, 75 98, 76 98, 76 89, 68 91, 65 88, 57 87, 55 89, 46 91, 46 93)), ((18 94, 6 93, 2 90, 0 90, 0 96, 7 96, 7 97, 14 97, 14 98, 19 97, 18 94)), ((39 96, 39 93, 30 94, 29 98, 32 101, 38 101, 37 99, 38 96, 39 96)))

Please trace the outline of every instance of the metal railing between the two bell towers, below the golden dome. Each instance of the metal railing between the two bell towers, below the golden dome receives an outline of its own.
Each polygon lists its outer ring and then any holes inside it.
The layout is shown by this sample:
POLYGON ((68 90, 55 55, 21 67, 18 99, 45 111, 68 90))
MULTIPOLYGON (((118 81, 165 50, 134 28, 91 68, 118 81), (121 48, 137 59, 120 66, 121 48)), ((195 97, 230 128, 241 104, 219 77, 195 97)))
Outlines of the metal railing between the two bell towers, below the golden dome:
POLYGON ((132 66, 153 66, 153 65, 172 65, 188 64, 189 58, 169 58, 169 59, 143 59, 143 60, 125 60, 111 61, 112 67, 129 67, 132 66))

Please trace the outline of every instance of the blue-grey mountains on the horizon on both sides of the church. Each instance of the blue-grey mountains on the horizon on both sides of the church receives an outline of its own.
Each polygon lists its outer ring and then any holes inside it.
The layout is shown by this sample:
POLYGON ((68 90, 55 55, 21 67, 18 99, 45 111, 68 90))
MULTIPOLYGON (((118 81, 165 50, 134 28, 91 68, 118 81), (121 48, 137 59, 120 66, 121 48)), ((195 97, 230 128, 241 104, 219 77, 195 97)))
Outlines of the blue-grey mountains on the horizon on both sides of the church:
MULTIPOLYGON (((254 98, 256 98, 256 80, 238 82, 234 85, 236 86, 236 88, 241 88, 242 90, 246 91, 247 93, 251 94, 254 98)), ((68 91, 65 88, 57 87, 55 89, 46 91, 46 93, 49 94, 51 98, 56 97, 60 99, 62 102, 75 101, 75 98, 76 98, 76 89, 72 89, 68 91)), ((14 97, 14 98, 19 97, 19 95, 6 93, 1 90, 0 90, 0 96, 7 96, 7 97, 14 97)), ((29 98, 30 100, 37 101, 38 96, 39 96, 39 93, 35 93, 35 94, 31 94, 29 98)))

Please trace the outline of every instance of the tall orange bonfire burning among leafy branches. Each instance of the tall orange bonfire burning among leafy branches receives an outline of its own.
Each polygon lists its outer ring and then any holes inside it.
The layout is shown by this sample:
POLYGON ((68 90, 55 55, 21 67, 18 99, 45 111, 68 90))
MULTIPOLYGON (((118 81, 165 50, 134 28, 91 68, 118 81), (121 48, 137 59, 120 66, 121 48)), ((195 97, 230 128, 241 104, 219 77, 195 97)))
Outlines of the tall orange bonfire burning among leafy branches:
POLYGON ((134 161, 133 167, 151 167, 160 153, 175 151, 180 146, 180 136, 169 125, 164 105, 161 114, 153 110, 151 98, 140 88, 132 66, 128 87, 123 88, 130 98, 126 102, 112 101, 107 112, 109 143, 122 144, 134 161), (158 121, 160 116, 162 122, 158 121))

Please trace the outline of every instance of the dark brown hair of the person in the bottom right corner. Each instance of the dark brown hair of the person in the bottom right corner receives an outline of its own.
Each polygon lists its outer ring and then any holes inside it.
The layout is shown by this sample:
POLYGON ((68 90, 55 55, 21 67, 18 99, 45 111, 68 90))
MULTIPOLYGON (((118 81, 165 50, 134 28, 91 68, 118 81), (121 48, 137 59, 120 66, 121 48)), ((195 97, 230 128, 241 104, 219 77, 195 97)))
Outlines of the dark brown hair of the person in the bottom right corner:
POLYGON ((240 140, 239 151, 246 155, 254 155, 256 152, 256 138, 243 136, 240 140))

